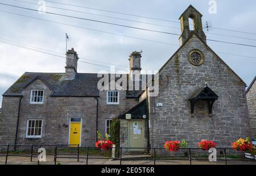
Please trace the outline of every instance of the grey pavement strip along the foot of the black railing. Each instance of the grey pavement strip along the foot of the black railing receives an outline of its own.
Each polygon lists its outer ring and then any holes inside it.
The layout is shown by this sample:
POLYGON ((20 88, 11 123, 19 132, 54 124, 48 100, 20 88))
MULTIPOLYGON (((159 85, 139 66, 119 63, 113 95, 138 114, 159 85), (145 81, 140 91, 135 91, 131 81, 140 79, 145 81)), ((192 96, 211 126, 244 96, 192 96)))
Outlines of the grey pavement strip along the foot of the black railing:
MULTIPOLYGON (((62 156, 71 157, 71 156, 62 156)), ((76 157, 76 156, 73 156, 76 157)), ((86 165, 86 156, 80 156, 80 160, 77 158, 57 158, 56 164, 59 165, 86 165), (84 157, 84 158, 83 158, 84 157)), ((119 160, 98 158, 98 156, 90 156, 93 158, 88 159, 88 165, 119 165, 119 160)), ((152 158, 148 156, 123 156, 122 165, 154 165, 152 158)), ((6 157, 0 156, 0 165, 5 164, 6 157)), ((245 161, 228 161, 228 165, 256 165, 256 160, 245 160, 245 161)), ((11 165, 36 165, 37 157, 32 158, 30 162, 30 157, 20 157, 20 156, 9 156, 7 164, 11 165)), ((47 156, 45 162, 40 162, 40 165, 54 165, 53 156, 47 156)), ((156 165, 189 165, 188 160, 156 160, 156 165)), ((225 165, 225 161, 198 161, 193 160, 192 165, 225 165)))

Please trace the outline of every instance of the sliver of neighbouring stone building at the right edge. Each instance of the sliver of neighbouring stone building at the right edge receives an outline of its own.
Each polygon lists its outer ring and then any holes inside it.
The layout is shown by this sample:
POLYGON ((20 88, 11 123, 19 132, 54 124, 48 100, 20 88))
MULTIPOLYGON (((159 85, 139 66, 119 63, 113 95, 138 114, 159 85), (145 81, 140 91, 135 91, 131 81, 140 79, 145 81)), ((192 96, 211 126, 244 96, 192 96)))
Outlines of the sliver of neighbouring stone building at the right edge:
POLYGON ((248 110, 250 116, 251 137, 256 140, 256 77, 246 90, 248 110))

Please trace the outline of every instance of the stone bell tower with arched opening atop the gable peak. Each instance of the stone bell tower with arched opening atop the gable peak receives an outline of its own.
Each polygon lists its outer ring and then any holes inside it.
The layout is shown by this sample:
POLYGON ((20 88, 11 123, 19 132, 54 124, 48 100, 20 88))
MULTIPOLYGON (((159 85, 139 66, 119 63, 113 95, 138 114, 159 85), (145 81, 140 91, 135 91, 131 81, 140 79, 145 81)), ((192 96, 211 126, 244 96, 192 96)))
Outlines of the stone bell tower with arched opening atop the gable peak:
POLYGON ((192 35, 192 33, 196 33, 203 41, 206 43, 206 35, 203 31, 202 24, 202 14, 195 9, 192 5, 188 6, 188 8, 180 15, 180 45, 183 45, 184 42, 192 35), (189 24, 189 19, 192 20, 193 24, 189 24), (192 26, 192 30, 190 27, 192 26))

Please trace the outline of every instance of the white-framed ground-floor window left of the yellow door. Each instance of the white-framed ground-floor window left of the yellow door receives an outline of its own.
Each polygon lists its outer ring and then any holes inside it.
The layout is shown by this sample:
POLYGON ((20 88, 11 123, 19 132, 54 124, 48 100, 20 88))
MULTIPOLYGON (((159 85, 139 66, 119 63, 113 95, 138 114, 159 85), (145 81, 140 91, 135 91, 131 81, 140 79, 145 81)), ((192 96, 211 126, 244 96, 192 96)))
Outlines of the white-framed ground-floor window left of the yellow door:
POLYGON ((42 120, 27 120, 26 137, 42 136, 42 120))

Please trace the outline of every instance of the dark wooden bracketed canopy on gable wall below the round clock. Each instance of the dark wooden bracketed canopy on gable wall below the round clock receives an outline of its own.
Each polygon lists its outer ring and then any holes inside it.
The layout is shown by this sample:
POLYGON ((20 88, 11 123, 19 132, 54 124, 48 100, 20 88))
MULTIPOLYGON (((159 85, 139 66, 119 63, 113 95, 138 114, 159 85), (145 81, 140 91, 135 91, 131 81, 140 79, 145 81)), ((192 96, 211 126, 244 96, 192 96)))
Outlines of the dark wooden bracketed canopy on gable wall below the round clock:
POLYGON ((218 95, 212 91, 206 84, 205 87, 195 91, 192 94, 189 101, 191 103, 191 114, 194 114, 194 107, 197 100, 204 100, 208 102, 209 105, 209 114, 212 114, 213 103, 218 99, 218 95))

